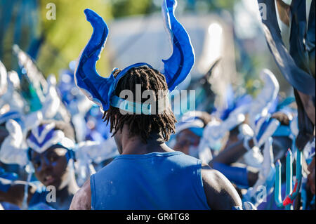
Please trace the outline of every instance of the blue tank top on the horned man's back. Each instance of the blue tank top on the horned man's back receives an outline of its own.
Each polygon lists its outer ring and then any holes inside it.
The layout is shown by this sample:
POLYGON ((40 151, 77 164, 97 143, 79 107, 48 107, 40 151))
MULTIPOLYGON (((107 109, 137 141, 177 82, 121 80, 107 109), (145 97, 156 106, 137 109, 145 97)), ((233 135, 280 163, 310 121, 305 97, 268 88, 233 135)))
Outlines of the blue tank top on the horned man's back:
POLYGON ((201 168, 182 152, 120 155, 90 177, 91 209, 209 209, 201 168))

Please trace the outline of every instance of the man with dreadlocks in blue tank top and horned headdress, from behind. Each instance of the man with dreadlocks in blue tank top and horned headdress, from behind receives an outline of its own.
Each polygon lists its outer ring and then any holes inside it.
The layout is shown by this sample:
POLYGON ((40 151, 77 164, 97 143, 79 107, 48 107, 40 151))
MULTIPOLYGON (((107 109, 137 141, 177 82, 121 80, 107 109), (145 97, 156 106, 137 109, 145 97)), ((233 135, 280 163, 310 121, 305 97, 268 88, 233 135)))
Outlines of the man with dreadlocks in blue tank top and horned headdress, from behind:
POLYGON ((173 91, 187 77, 195 60, 190 37, 173 15, 175 8, 176 1, 164 0, 162 10, 173 42, 173 55, 163 60, 164 72, 138 63, 114 70, 108 78, 96 72, 96 61, 108 34, 107 25, 95 12, 84 11, 93 26, 93 35, 79 57, 74 74, 76 84, 105 111, 105 121, 110 122, 121 155, 84 183, 70 209, 239 209, 242 206, 225 176, 165 144, 175 132, 176 118, 170 107, 162 106, 168 95, 158 92, 173 91), (148 104, 147 98, 137 100, 139 87, 141 91, 152 92, 154 103, 148 104), (133 93, 133 98, 126 98, 123 92, 133 93))

